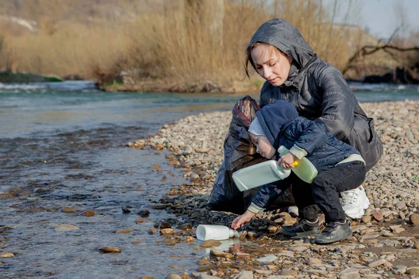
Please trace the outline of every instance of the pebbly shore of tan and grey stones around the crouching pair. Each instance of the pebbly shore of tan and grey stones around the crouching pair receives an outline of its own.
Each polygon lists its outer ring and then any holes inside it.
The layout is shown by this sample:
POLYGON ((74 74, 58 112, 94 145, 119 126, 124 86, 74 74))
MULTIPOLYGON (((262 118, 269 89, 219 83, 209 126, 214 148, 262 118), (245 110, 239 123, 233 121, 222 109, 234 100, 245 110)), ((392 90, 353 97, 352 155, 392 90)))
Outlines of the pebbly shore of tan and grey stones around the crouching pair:
POLYGON ((168 164, 191 180, 173 187, 156 204, 181 218, 177 224, 160 225, 165 241, 212 247, 210 257, 197 262, 196 272, 170 273, 168 278, 419 278, 419 102, 361 106, 374 118, 384 153, 363 183, 371 204, 361 220, 353 221, 353 236, 327 246, 283 236, 282 225, 296 219, 279 210, 256 215, 240 232, 241 244, 228 249, 193 239, 197 225, 230 226, 235 218, 205 209, 223 160, 231 112, 188 116, 148 139, 129 142, 131 148, 170 150, 168 164))

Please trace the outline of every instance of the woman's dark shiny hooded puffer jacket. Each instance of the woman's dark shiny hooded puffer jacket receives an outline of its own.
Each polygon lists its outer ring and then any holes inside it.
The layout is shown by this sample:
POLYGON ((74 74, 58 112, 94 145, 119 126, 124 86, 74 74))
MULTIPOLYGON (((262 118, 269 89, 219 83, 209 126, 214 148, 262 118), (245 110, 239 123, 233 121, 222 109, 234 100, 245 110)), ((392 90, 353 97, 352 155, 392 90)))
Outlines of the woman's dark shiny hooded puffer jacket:
POLYGON ((300 116, 325 123, 338 140, 360 151, 367 170, 383 153, 383 144, 339 69, 319 59, 300 31, 286 20, 275 18, 262 24, 250 43, 274 45, 293 59, 288 80, 275 87, 265 82, 260 107, 274 100, 287 100, 300 116))

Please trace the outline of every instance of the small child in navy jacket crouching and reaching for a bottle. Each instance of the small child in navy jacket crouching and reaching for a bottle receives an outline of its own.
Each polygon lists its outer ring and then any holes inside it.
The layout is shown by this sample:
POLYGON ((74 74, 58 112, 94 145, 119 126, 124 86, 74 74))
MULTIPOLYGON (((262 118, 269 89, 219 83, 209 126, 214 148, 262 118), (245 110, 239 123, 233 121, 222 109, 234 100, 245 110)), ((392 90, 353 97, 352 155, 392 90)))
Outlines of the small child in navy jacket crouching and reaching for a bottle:
MULTIPOLYGON (((365 162, 352 146, 331 135, 323 123, 298 116, 295 107, 285 100, 276 100, 256 113, 249 128, 251 142, 258 153, 267 159, 277 155, 283 145, 290 150, 279 158, 284 168, 293 168, 293 162, 306 157, 318 170, 311 184, 299 179, 293 172, 284 180, 292 185, 300 220, 293 226, 284 227, 288 236, 317 235, 316 243, 333 243, 352 235, 351 223, 339 202, 339 193, 357 188, 365 179, 365 162), (316 205, 325 214, 327 227, 320 231, 316 205)), ((263 186, 253 197, 245 213, 233 220, 231 227, 237 229, 256 214, 262 213, 270 200, 278 195, 272 185, 263 186)))

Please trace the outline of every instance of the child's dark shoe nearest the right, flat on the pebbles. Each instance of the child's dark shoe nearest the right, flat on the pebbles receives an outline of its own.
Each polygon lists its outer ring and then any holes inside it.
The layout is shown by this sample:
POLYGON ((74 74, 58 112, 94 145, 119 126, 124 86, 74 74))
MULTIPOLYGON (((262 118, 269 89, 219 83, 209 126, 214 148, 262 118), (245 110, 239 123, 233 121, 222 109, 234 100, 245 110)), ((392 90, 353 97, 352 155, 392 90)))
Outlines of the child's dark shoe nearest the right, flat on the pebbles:
POLYGON ((348 239, 352 235, 351 221, 345 220, 344 223, 330 222, 323 229, 320 235, 316 236, 314 243, 328 244, 336 241, 348 239))

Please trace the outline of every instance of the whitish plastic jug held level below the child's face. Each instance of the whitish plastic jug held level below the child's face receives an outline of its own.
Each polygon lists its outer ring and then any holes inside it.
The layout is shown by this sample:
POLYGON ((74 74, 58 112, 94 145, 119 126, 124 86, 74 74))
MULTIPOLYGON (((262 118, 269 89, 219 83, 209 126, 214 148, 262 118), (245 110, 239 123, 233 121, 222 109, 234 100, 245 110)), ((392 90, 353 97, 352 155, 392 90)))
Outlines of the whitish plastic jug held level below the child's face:
POLYGON ((244 167, 233 173, 233 181, 240 191, 286 179, 291 174, 290 169, 283 169, 276 160, 244 167))

